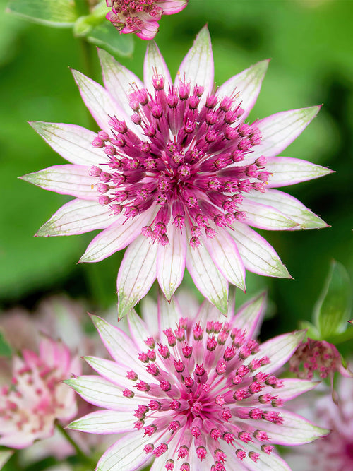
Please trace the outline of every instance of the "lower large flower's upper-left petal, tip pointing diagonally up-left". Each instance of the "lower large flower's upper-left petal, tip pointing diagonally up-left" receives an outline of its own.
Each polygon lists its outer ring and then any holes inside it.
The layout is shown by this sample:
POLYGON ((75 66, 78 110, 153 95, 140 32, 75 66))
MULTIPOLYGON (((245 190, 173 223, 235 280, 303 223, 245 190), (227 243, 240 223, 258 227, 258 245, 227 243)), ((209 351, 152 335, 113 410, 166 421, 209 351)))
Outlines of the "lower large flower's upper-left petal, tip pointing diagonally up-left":
POLYGON ((128 335, 98 316, 91 316, 91 318, 112 358, 119 364, 128 362, 132 368, 141 371, 141 364, 137 359, 138 349, 128 335))

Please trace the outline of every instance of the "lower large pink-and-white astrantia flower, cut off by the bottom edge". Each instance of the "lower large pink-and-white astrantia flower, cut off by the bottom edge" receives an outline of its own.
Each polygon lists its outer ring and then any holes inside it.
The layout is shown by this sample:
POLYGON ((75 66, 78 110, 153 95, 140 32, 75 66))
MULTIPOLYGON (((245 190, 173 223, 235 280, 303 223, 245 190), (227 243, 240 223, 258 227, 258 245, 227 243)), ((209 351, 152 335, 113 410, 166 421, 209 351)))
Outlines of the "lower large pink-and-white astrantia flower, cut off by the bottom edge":
POLYGON ((275 443, 298 445, 327 433, 282 407, 316 384, 275 376, 305 332, 259 345, 253 338, 264 304, 263 296, 253 299, 220 322, 208 302, 189 316, 160 300, 157 333, 148 328, 153 311, 144 320, 131 311, 131 337, 92 316, 113 360, 86 357, 100 376, 66 382, 103 410, 68 427, 124 434, 97 470, 133 471, 155 458, 151 471, 288 471, 275 443))

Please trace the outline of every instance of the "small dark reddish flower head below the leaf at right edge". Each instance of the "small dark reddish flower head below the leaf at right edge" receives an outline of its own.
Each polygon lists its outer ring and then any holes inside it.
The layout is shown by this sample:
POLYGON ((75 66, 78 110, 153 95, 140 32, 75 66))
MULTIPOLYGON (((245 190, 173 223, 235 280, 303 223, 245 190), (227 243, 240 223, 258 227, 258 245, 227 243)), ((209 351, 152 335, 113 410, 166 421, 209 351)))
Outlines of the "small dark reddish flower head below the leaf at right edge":
POLYGON ((317 371, 320 378, 333 376, 338 371, 342 376, 352 377, 352 372, 342 364, 340 352, 335 345, 324 340, 308 338, 302 342, 289 359, 289 371, 299 378, 312 379, 317 371))

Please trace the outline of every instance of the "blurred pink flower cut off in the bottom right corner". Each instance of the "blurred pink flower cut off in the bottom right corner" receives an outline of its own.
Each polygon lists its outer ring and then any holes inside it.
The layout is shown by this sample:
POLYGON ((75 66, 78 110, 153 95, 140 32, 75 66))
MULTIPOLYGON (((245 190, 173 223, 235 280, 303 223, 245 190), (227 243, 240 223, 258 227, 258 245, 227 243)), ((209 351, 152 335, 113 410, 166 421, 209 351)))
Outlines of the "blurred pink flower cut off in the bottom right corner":
POLYGON ((316 395, 303 413, 331 429, 331 433, 318 439, 310 447, 299 447, 287 459, 293 471, 352 470, 353 469, 353 380, 340 377, 337 382, 337 404, 329 390, 316 395))

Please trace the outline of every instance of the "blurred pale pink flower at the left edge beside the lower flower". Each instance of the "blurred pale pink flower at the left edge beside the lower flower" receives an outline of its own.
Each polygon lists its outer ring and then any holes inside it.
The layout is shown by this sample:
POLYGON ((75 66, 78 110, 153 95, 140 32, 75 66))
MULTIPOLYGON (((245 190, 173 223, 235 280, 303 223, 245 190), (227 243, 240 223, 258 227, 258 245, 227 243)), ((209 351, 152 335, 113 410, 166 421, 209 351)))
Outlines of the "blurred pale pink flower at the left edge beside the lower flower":
POLYGON ((0 389, 0 445, 26 448, 52 436, 56 419, 73 419, 76 398, 62 381, 80 372, 78 357, 45 336, 39 354, 23 350, 23 358, 14 357, 12 384, 0 389))

